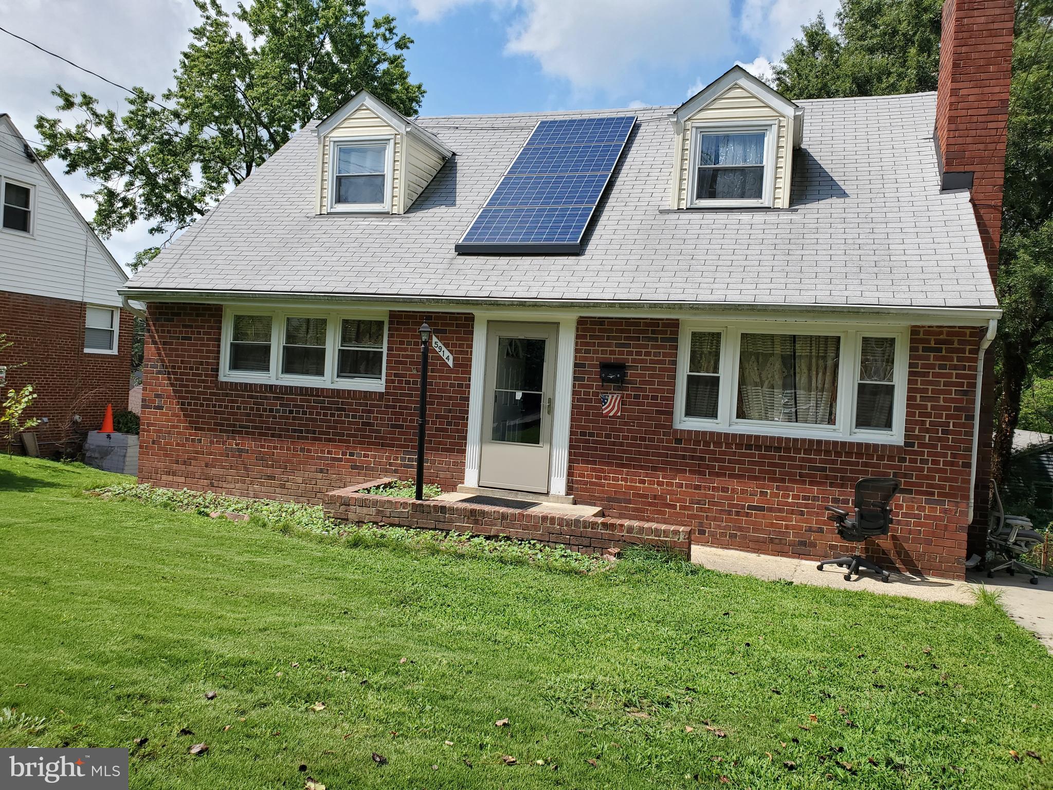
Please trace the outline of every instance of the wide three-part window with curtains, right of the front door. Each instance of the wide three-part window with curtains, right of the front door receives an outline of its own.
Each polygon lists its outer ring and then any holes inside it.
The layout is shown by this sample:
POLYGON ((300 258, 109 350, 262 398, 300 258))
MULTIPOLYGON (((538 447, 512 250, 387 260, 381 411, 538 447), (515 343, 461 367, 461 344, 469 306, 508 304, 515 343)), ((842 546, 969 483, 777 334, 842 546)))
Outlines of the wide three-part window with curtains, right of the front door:
POLYGON ((902 440, 906 329, 783 323, 790 331, 780 332, 777 321, 708 323, 680 328, 676 427, 902 440))

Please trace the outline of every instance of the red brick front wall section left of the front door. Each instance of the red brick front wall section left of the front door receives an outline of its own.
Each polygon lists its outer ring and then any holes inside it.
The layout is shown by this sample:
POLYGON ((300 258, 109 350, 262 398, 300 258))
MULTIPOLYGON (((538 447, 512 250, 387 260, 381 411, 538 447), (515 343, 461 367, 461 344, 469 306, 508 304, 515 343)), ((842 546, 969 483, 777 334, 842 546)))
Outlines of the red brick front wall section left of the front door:
POLYGON ((464 479, 471 315, 392 312, 388 388, 359 392, 219 380, 222 308, 151 304, 139 478, 158 486, 319 500, 367 472, 412 479, 421 321, 459 360, 433 354, 426 474, 464 479))

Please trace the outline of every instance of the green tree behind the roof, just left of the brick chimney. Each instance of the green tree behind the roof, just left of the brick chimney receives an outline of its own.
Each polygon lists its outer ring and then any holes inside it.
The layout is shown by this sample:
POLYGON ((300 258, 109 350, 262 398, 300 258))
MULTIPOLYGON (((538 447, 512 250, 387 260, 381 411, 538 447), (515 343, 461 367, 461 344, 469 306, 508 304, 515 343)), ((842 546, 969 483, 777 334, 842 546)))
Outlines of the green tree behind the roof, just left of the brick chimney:
POLYGON ((773 68, 791 99, 935 91, 942 0, 842 0, 836 31, 819 14, 773 68))

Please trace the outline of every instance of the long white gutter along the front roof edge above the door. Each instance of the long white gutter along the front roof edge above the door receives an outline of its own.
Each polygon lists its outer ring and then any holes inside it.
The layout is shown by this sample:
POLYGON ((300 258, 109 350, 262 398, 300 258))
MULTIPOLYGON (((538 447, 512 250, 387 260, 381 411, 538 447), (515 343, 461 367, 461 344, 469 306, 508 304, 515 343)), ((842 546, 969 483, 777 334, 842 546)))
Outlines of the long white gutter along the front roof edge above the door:
MULTIPOLYGON (((146 288, 125 288, 118 291, 121 296, 131 297, 137 301, 194 301, 213 304, 225 304, 230 302, 274 302, 278 300, 286 301, 313 301, 313 302, 337 302, 340 304, 399 304, 400 307, 415 307, 423 311, 441 310, 443 307, 451 310, 464 310, 465 308, 496 308, 509 309, 559 309, 579 311, 618 311, 619 313, 642 312, 642 311, 664 311, 664 312, 712 312, 712 313, 736 313, 743 311, 751 313, 830 313, 842 315, 886 315, 913 317, 915 324, 935 323, 941 325, 977 325, 982 327, 990 321, 997 321, 1001 317, 1001 309, 991 308, 939 308, 939 307, 912 307, 912 305, 881 305, 881 304, 822 304, 817 302, 706 302, 706 301, 645 301, 642 299, 530 299, 530 298, 501 298, 501 297, 457 297, 457 296, 403 296, 396 294, 306 294, 295 291, 197 291, 197 290, 155 290, 146 288)), ((600 315, 600 313, 596 313, 600 315)))

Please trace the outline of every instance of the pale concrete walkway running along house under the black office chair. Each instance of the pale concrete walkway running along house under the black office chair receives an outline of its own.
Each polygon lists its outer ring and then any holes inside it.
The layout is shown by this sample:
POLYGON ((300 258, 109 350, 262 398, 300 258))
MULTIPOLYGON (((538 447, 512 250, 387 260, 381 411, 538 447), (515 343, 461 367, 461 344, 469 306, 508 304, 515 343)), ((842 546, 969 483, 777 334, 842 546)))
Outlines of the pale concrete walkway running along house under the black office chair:
POLYGON ((815 559, 771 557, 767 554, 698 545, 691 547, 691 561, 714 571, 763 579, 787 579, 797 585, 868 590, 883 595, 903 595, 955 604, 973 604, 976 600, 973 589, 985 585, 988 589, 1001 593, 999 603, 1010 617, 1032 631, 1039 641, 1053 651, 1053 578, 1039 577, 1038 585, 1032 585, 1027 576, 1010 576, 1005 573, 996 574, 990 579, 985 573, 971 573, 966 581, 893 573, 892 579, 883 582, 875 574, 865 573, 846 581, 843 571, 833 567, 819 571, 815 567, 815 559))

